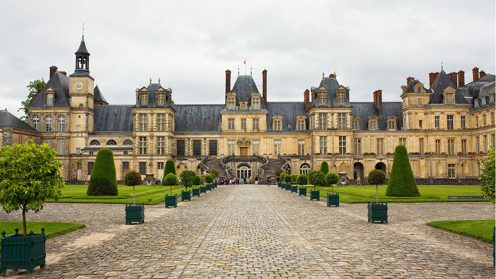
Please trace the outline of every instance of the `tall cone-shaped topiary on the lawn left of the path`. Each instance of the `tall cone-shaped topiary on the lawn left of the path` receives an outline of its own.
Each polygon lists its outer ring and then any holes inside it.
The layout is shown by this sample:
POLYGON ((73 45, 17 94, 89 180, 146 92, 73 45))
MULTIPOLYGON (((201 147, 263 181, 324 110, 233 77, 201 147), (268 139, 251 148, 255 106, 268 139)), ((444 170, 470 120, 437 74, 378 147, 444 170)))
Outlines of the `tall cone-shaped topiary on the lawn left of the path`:
POLYGON ((117 196, 116 165, 114 153, 109 148, 98 151, 90 176, 88 196, 117 196))

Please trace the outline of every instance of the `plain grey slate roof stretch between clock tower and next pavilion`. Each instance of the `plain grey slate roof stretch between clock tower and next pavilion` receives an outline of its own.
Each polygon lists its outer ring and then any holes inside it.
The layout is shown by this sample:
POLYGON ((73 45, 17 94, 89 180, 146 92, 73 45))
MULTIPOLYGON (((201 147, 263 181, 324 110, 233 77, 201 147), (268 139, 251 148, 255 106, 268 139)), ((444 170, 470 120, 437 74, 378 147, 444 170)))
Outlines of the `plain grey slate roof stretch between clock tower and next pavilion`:
POLYGON ((132 105, 94 106, 94 132, 132 132, 132 105))

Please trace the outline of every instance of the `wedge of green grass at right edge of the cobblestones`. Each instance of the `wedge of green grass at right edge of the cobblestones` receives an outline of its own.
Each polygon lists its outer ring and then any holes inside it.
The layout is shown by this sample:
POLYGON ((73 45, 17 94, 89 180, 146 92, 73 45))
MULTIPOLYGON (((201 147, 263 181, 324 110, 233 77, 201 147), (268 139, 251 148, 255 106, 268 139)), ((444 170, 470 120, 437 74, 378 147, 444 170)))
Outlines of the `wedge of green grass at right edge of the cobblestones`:
POLYGON ((473 236, 487 243, 493 243, 493 227, 495 220, 456 220, 435 221, 428 225, 473 236))

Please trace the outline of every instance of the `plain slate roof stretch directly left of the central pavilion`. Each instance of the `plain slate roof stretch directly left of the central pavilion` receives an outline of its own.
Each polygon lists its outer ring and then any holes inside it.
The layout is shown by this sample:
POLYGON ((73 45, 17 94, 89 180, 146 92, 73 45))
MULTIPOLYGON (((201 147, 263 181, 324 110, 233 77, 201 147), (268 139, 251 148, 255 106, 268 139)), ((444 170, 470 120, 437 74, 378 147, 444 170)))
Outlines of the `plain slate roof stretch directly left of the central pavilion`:
POLYGON ((174 105, 175 132, 220 132, 221 105, 174 105))

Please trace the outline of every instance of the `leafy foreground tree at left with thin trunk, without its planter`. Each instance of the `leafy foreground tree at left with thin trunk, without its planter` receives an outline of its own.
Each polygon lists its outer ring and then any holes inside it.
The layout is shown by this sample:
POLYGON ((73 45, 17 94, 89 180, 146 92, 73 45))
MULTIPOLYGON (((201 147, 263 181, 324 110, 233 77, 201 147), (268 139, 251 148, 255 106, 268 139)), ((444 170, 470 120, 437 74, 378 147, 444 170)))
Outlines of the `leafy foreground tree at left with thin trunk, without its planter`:
POLYGON ((37 145, 32 139, 0 149, 0 204, 7 214, 22 209, 24 237, 26 212, 38 212, 46 200, 58 201, 62 196, 62 161, 56 156, 55 149, 37 145))

